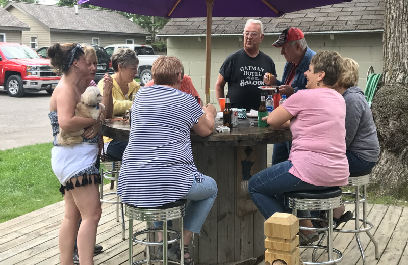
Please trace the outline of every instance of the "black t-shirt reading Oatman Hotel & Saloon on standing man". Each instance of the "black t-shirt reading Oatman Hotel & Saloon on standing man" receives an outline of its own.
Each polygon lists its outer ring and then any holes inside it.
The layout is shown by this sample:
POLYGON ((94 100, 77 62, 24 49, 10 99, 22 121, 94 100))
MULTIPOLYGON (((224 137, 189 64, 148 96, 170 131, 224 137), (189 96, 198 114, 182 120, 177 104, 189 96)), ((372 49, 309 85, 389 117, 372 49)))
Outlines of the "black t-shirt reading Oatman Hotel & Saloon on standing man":
POLYGON ((228 83, 231 107, 245 108, 249 111, 258 110, 261 94, 268 94, 268 91, 258 88, 265 85, 263 81, 265 73, 276 76, 276 69, 272 58, 262 51, 252 58, 242 48, 225 59, 219 73, 228 83))

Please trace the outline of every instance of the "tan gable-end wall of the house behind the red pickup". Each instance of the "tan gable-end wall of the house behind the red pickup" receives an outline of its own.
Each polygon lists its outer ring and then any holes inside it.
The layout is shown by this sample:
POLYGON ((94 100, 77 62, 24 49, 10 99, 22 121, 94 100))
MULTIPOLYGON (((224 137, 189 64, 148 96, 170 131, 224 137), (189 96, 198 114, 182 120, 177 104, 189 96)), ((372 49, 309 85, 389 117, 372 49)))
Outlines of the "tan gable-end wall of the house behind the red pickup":
POLYGON ((22 44, 30 47, 30 36, 37 36, 38 48, 49 46, 50 34, 49 31, 42 24, 23 14, 18 9, 11 7, 8 10, 13 16, 17 17, 21 22, 30 27, 30 31, 22 31, 22 44))

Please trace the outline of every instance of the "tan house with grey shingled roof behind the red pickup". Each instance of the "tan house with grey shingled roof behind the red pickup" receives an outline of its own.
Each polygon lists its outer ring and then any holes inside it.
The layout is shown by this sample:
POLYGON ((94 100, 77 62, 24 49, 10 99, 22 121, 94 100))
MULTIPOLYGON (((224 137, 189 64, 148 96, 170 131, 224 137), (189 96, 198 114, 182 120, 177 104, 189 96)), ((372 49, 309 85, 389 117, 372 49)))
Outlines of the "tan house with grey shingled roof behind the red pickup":
POLYGON ((118 43, 146 44, 146 36, 151 35, 116 11, 23 2, 10 2, 4 9, 30 27, 22 32, 21 43, 34 50, 55 42, 103 47, 118 43))

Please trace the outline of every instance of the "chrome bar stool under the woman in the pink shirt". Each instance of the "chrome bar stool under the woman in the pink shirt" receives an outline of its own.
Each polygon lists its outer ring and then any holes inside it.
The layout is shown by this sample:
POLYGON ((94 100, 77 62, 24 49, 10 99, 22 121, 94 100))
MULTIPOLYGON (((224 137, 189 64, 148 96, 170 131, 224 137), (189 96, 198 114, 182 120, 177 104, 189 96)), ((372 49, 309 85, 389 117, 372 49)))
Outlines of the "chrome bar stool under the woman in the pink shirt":
POLYGON ((316 245, 304 245, 300 248, 313 248, 312 262, 305 262, 304 264, 335 264, 343 259, 343 253, 339 250, 333 248, 333 228, 336 223, 333 221, 333 209, 338 208, 342 205, 342 190, 339 187, 331 187, 327 190, 320 191, 295 191, 284 193, 285 197, 289 199, 289 207, 293 209, 292 214, 297 216, 298 210, 322 210, 325 211, 328 218, 315 218, 315 217, 299 217, 299 220, 316 220, 327 222, 326 227, 311 228, 300 226, 301 230, 309 231, 324 231, 327 233, 327 246, 322 246, 321 243, 323 238, 316 245), (316 262, 315 253, 317 249, 323 249, 328 252, 328 261, 316 262), (336 253, 338 258, 333 258, 333 253, 336 253))

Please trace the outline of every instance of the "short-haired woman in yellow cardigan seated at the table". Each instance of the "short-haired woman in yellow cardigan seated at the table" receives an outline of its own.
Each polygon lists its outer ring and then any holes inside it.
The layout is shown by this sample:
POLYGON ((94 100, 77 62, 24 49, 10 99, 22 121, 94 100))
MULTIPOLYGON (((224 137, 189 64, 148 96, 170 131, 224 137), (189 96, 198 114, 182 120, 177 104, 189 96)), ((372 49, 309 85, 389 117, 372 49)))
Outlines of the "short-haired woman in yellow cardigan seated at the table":
MULTIPOLYGON (((129 48, 119 48, 112 55, 112 67, 115 73, 113 78, 113 115, 124 115, 132 107, 133 93, 136 93, 140 85, 135 81, 139 59, 135 51, 129 48)), ((98 87, 102 91, 102 80, 98 87)), ((122 159, 127 141, 119 141, 104 136, 105 153, 107 155, 122 159)))

